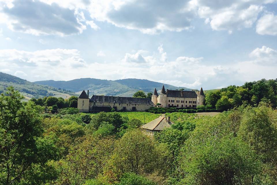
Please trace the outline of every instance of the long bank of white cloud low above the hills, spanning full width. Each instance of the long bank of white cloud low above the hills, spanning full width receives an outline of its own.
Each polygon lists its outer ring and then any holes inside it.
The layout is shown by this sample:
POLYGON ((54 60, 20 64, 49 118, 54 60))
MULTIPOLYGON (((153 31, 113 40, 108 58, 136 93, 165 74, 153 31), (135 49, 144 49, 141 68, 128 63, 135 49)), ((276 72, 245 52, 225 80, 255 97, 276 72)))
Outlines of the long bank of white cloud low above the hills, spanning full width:
POLYGON ((126 53, 122 60, 87 63, 76 49, 50 49, 34 52, 0 50, 0 69, 17 72, 29 81, 71 80, 75 78, 124 79, 144 78, 188 88, 217 88, 243 84, 261 78, 276 78, 276 65, 265 65, 267 59, 277 61, 276 50, 268 47, 254 49, 248 61, 227 64, 206 64, 203 57, 180 56, 161 61, 164 49, 153 55, 126 53), (97 68, 95 67, 97 66, 97 68), (104 73, 104 72, 105 73, 104 73))

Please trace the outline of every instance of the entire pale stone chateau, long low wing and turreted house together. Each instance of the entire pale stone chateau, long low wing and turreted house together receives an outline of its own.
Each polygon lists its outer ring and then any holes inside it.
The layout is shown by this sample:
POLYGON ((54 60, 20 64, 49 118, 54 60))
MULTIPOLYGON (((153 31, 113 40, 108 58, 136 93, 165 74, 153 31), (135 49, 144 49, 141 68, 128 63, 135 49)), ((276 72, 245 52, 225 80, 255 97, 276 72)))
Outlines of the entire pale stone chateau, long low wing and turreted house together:
POLYGON ((155 88, 151 100, 148 98, 116 97, 92 95, 89 99, 89 91, 85 90, 78 97, 78 109, 80 112, 109 112, 112 108, 116 111, 145 111, 151 107, 186 107, 194 108, 203 105, 205 95, 201 87, 200 91, 162 90, 158 95, 155 88))

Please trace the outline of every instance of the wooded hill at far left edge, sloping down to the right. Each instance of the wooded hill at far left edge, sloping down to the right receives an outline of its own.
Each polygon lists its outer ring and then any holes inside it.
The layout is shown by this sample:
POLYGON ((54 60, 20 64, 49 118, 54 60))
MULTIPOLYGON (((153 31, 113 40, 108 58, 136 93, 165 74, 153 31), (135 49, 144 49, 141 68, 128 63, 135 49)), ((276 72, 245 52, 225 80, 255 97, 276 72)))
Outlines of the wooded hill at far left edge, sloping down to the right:
POLYGON ((44 96, 68 98, 76 95, 74 92, 65 89, 62 90, 51 86, 35 84, 25 79, 0 72, 0 93, 5 92, 9 86, 13 86, 15 90, 18 90, 26 100, 44 96))

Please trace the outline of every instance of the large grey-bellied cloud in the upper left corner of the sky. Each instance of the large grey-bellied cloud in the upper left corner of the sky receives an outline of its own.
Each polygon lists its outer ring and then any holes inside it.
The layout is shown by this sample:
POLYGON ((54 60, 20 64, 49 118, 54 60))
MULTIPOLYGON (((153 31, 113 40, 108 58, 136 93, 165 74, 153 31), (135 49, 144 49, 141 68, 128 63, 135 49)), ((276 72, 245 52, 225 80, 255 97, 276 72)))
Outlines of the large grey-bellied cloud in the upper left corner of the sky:
POLYGON ((87 29, 86 25, 98 29, 93 21, 85 19, 83 12, 60 7, 57 3, 32 0, 15 0, 11 3, 0 2, 0 22, 6 23, 15 32, 65 36, 82 33, 87 29))

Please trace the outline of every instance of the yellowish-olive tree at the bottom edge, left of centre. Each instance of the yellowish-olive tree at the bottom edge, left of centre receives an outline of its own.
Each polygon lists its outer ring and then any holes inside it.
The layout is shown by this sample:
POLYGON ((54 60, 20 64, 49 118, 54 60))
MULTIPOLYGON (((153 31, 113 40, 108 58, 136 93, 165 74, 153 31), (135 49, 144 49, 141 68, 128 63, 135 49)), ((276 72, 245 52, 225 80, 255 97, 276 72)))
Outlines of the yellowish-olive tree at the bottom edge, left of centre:
POLYGON ((111 138, 93 136, 72 147, 65 160, 60 162, 59 184, 83 185, 86 180, 96 178, 113 151, 113 143, 111 138))

